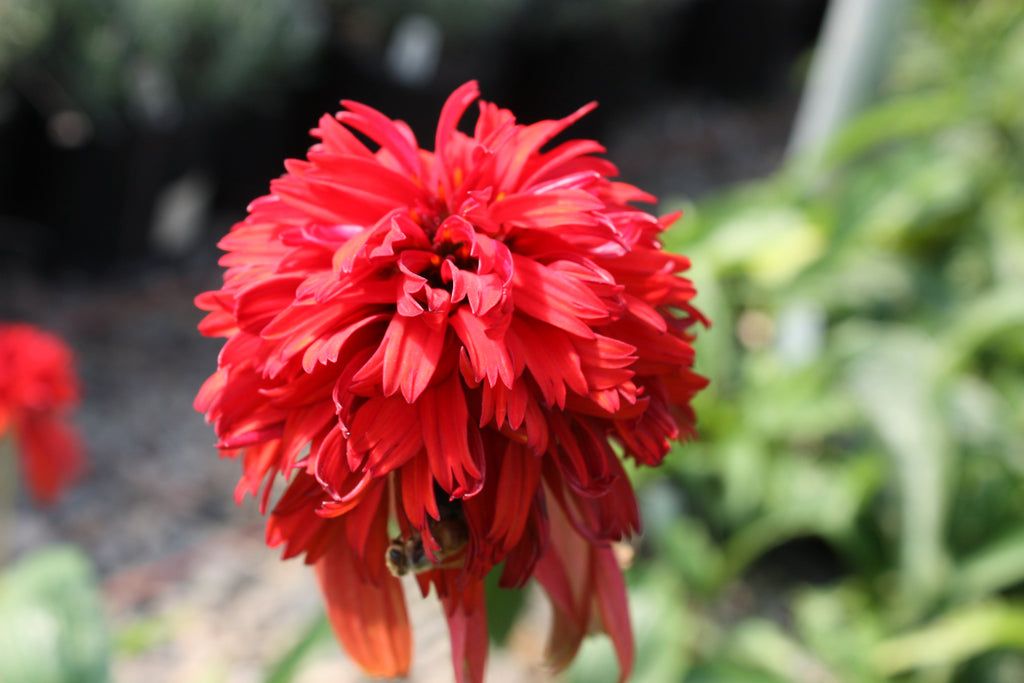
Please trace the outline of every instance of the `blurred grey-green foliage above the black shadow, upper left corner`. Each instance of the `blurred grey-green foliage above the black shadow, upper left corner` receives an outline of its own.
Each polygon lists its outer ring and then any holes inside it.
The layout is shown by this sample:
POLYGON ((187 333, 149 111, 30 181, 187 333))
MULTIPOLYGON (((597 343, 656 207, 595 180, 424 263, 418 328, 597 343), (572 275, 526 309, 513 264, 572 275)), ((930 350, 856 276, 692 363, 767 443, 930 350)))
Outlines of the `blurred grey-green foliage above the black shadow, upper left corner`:
POLYGON ((0 2, 0 87, 45 75, 105 121, 266 106, 327 40, 318 0, 0 2))

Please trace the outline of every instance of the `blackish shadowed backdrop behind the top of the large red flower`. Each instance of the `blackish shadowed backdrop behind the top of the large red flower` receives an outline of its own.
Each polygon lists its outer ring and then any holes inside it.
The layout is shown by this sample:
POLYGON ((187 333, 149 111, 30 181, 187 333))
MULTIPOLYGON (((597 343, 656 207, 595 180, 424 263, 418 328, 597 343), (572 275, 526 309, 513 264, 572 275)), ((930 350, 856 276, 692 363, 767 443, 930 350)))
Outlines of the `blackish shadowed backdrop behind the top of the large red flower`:
POLYGON ((150 29, 144 18, 129 24, 116 2, 55 2, 46 39, 0 72, 0 263, 49 276, 187 260, 211 240, 161 250, 152 239, 175 181, 199 180, 200 233, 216 236, 266 191, 285 158, 303 155, 307 131, 339 99, 406 120, 427 144, 444 97, 471 78, 524 122, 598 100, 572 134, 600 139, 624 178, 659 197, 700 196, 777 163, 824 6, 423 3, 440 55, 411 84, 386 62, 410 3, 260 9, 273 4, 234 7, 282 25, 285 38, 267 29, 275 41, 250 44, 229 39, 232 24, 251 24, 230 14, 182 9, 153 18, 180 25, 150 29), (164 33, 178 38, 165 45, 164 33), (106 61, 90 56, 97 36, 116 44, 106 61), (255 54, 236 55, 246 49, 255 54))

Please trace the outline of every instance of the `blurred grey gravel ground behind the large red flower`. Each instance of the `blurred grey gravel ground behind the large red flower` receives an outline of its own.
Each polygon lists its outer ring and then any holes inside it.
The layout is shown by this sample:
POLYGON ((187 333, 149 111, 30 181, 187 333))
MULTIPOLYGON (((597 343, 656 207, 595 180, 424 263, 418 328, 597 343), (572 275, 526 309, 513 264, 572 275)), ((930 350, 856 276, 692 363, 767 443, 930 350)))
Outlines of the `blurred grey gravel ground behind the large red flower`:
MULTIPOLYGON (((617 126, 609 157, 625 179, 655 194, 699 196, 774 168, 793 110, 792 97, 666 101, 617 126)), ((118 642, 117 681, 260 681, 321 613, 311 573, 266 549, 251 499, 234 505, 238 463, 217 458, 213 430, 191 408, 221 343, 196 332, 202 313, 191 303, 219 283, 215 260, 211 247, 186 263, 102 280, 0 273, 13 316, 62 335, 78 354, 85 400, 77 422, 92 463, 53 509, 22 501, 14 550, 70 542, 91 557, 118 642)), ((411 604, 410 680, 451 680, 435 601, 411 604)), ((546 678, 537 665, 544 609, 529 614, 510 649, 493 651, 488 681, 546 678)), ((299 680, 364 678, 327 642, 299 680)))

